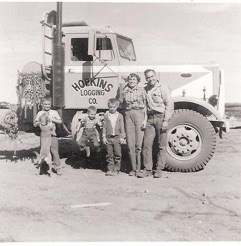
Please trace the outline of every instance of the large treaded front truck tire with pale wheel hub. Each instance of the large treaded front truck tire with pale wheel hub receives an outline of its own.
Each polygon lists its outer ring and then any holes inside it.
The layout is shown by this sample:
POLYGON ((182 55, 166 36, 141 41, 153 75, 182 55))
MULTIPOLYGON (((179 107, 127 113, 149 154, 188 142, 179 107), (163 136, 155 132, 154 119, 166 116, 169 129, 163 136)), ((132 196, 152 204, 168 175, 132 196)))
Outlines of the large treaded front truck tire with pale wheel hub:
POLYGON ((175 110, 168 130, 168 170, 202 170, 212 158, 215 147, 216 133, 207 118, 192 110, 175 110))

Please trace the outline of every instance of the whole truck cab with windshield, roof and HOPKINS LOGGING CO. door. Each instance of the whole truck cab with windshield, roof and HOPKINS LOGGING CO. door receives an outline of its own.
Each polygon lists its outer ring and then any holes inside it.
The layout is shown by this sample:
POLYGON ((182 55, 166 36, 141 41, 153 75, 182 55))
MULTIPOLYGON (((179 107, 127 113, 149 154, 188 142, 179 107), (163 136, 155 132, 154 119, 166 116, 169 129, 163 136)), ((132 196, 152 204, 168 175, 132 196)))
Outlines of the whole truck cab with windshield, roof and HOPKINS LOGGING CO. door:
POLYGON ((119 67, 136 63, 132 40, 111 28, 80 26, 64 27, 63 31, 65 109, 90 105, 106 109, 108 99, 116 96, 123 80, 119 67))

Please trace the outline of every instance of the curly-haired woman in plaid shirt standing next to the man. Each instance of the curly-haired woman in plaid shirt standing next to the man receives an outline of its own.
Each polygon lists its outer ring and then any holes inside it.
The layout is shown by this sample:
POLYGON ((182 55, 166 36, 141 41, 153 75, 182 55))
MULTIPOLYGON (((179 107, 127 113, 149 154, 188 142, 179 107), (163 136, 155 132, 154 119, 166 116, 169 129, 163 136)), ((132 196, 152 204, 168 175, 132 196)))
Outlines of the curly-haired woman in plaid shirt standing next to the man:
POLYGON ((124 110, 126 139, 129 149, 129 158, 134 176, 141 169, 141 149, 146 127, 146 92, 138 86, 140 77, 131 73, 127 78, 127 85, 120 93, 120 108, 124 110))

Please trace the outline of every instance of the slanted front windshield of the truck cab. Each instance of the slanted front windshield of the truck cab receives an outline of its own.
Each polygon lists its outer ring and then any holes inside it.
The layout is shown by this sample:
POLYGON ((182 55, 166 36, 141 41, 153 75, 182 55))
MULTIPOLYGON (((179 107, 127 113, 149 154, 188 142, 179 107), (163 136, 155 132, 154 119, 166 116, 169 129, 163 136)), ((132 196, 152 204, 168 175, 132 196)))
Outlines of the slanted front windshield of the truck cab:
POLYGON ((136 60, 136 54, 131 40, 121 36, 117 36, 117 44, 120 56, 122 58, 132 61, 136 60))

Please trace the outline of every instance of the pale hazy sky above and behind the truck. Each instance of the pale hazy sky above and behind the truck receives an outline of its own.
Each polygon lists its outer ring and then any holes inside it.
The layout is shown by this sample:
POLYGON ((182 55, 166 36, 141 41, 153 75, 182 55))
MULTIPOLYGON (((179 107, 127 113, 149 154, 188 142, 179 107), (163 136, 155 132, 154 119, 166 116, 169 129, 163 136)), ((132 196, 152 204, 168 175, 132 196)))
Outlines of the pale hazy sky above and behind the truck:
MULTIPOLYGON (((42 63, 41 24, 56 2, 0 2, 0 101, 17 102, 17 71, 42 63)), ((241 2, 64 2, 63 21, 111 26, 133 39, 139 65, 219 64, 226 102, 241 103, 241 2)))

